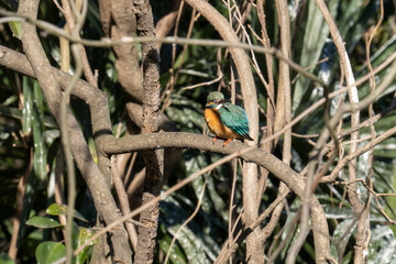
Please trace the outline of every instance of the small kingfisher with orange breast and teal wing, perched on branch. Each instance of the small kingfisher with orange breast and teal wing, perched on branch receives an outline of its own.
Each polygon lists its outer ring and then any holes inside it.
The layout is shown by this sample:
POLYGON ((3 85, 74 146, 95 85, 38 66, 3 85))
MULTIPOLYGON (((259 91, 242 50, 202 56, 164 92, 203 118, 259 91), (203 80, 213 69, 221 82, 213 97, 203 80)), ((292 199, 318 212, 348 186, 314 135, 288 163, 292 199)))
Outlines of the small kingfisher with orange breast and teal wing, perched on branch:
POLYGON ((224 99, 223 94, 212 91, 208 95, 204 116, 209 130, 215 134, 213 142, 218 138, 224 139, 226 146, 233 139, 253 141, 249 135, 246 112, 224 99))

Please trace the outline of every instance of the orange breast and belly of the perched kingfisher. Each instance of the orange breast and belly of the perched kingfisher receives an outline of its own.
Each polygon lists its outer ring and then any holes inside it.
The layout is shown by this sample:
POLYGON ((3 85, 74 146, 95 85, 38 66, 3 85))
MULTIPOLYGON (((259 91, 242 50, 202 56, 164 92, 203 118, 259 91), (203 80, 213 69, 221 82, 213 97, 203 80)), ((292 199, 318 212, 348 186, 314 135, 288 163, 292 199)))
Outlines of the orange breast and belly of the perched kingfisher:
POLYGON ((205 121, 208 124, 209 130, 218 138, 222 139, 243 139, 242 135, 237 134, 234 131, 221 123, 219 113, 212 109, 205 109, 205 121))

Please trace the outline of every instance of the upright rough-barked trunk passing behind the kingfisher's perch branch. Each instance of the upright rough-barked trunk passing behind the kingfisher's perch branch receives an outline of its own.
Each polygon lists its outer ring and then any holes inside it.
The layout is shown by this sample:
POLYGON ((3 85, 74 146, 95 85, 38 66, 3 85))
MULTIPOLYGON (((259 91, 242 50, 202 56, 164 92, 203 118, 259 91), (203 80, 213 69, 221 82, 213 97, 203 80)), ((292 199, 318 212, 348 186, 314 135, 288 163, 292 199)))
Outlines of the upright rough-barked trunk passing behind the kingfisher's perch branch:
MULTIPOLYGON (((140 36, 154 36, 154 20, 148 0, 133 1, 140 36)), ((143 64, 143 123, 142 133, 156 132, 160 124, 160 54, 156 43, 142 43, 143 64)), ((164 150, 144 151, 146 177, 142 204, 160 195, 164 175, 164 150)), ((160 205, 141 213, 135 263, 152 263, 158 227, 160 205)))

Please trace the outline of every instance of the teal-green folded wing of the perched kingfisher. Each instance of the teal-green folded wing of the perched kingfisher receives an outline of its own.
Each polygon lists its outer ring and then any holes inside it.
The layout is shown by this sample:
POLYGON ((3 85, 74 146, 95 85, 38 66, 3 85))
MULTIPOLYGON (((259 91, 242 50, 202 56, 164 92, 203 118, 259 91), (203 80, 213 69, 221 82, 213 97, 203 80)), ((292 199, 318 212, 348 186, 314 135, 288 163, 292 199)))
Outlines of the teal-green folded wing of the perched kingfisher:
POLYGON ((249 121, 243 108, 229 102, 219 109, 219 113, 224 125, 242 136, 249 136, 249 121))

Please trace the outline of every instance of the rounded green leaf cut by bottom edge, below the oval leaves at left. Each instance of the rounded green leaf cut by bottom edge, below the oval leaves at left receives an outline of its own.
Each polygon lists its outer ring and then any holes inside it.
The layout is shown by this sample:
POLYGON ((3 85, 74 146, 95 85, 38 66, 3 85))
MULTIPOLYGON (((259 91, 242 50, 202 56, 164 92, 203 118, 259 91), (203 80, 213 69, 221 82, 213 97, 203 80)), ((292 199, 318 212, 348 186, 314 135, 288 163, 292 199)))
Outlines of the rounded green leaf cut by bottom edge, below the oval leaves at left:
POLYGON ((50 264, 66 256, 66 248, 62 243, 46 241, 41 243, 35 252, 38 264, 50 264))

